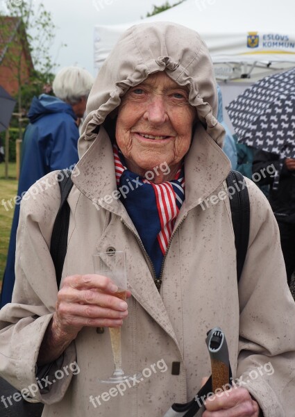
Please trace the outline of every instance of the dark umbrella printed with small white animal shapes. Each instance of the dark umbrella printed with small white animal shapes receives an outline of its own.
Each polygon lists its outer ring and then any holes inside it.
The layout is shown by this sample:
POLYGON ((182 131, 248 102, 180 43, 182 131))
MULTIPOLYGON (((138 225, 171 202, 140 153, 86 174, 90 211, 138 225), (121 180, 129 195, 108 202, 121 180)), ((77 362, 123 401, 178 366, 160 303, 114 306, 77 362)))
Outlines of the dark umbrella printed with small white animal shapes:
POLYGON ((254 83, 226 110, 239 142, 295 158, 295 68, 254 83))

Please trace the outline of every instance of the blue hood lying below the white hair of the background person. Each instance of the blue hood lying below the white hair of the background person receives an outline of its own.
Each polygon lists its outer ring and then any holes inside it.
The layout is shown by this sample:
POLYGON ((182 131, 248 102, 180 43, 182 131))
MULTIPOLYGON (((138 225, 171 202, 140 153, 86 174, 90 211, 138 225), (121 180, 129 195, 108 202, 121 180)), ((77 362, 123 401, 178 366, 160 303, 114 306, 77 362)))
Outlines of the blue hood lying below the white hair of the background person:
POLYGON ((58 97, 47 94, 33 98, 30 110, 28 111, 28 118, 31 123, 35 123, 40 117, 52 113, 68 113, 76 120, 76 115, 69 104, 58 99, 58 97))

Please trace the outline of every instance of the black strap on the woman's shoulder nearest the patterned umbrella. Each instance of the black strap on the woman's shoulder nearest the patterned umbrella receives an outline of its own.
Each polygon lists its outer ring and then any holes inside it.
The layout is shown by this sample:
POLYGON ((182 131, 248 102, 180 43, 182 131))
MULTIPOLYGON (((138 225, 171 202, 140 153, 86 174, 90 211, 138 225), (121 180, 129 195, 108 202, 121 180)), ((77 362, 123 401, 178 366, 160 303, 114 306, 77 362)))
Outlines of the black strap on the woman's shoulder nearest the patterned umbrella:
POLYGON ((248 188, 243 175, 238 171, 230 171, 226 179, 233 229, 235 232, 235 249, 237 251, 237 281, 242 275, 244 261, 248 249, 250 230, 250 202, 248 188), (235 190, 235 191, 234 191, 235 190))

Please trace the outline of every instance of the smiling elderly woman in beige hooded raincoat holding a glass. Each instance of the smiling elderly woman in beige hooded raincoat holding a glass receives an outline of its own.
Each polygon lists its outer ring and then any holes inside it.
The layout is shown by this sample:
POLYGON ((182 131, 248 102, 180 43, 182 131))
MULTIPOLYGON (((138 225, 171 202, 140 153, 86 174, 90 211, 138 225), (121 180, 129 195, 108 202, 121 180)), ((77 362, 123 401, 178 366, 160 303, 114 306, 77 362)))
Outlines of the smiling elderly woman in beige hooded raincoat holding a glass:
POLYGON ((239 384, 199 413, 291 417, 295 304, 271 208, 248 188, 250 236, 237 288, 228 199, 201 206, 225 190, 230 162, 199 35, 170 23, 130 28, 101 68, 87 111, 59 289, 49 252, 58 184, 22 204, 17 284, 0 316, 1 375, 19 389, 35 384, 47 417, 162 417, 210 375, 204 338, 218 325, 239 384), (92 254, 114 250, 127 254, 127 302, 93 273, 92 254), (99 382, 113 367, 109 332, 99 327, 121 327, 124 370, 143 377, 99 382), (46 375, 37 384, 36 366, 46 375))

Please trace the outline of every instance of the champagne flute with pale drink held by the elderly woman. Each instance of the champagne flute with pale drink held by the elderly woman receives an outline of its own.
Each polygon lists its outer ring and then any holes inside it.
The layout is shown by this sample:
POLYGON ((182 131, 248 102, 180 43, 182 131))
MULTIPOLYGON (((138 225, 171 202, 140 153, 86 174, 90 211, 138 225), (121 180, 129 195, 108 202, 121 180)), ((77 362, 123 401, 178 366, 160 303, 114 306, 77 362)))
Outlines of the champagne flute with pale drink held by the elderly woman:
MULTIPOLYGON (((101 252, 92 255, 94 273, 104 275, 112 279, 117 285, 118 291, 113 294, 115 297, 126 301, 127 278, 126 278, 126 252, 101 252)), ((109 327, 110 341, 112 344, 112 355, 114 358, 115 370, 108 379, 99 379, 100 382, 114 383, 124 382, 130 379, 124 374, 121 360, 121 327, 109 327)))

